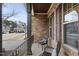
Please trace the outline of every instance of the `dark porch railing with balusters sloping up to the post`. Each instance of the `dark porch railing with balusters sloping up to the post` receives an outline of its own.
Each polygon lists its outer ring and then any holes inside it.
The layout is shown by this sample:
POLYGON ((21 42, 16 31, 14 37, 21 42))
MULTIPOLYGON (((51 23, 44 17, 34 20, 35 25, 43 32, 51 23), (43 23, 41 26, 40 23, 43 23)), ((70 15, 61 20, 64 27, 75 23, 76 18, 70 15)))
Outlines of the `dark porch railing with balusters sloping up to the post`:
MULTIPOLYGON (((33 40, 33 35, 27 38, 27 40, 29 39, 33 40)), ((22 44, 20 44, 14 50, 9 51, 9 52, 2 52, 0 54, 2 54, 3 56, 22 56, 24 54, 27 54, 27 40, 25 40, 22 44)))

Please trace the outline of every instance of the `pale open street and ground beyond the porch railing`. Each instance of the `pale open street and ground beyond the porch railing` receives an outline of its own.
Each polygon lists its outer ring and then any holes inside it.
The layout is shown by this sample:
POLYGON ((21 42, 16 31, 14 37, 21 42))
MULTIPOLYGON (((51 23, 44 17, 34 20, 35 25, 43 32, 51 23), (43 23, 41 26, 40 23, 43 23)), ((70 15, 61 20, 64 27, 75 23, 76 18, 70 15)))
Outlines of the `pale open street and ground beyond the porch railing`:
POLYGON ((25 41, 24 38, 25 33, 2 34, 2 47, 6 51, 14 50, 25 41))

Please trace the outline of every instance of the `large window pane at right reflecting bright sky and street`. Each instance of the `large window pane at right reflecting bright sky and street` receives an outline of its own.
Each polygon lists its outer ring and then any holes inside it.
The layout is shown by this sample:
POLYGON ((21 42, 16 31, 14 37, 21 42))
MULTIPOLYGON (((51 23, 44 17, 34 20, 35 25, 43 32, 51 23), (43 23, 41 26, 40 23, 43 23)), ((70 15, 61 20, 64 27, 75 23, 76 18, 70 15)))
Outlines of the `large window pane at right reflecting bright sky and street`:
POLYGON ((77 48, 78 37, 78 14, 72 11, 65 15, 65 43, 77 48))

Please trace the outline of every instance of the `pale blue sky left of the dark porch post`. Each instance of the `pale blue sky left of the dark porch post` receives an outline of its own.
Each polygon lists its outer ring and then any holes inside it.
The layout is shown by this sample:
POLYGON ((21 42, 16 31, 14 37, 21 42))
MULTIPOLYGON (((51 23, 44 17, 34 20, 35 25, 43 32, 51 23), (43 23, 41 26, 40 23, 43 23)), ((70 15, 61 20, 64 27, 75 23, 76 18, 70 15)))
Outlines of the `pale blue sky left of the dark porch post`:
POLYGON ((26 8, 22 3, 6 3, 4 5, 6 5, 6 7, 5 6, 2 7, 2 15, 11 13, 13 10, 18 13, 16 16, 13 16, 8 20, 22 21, 27 23, 26 8))

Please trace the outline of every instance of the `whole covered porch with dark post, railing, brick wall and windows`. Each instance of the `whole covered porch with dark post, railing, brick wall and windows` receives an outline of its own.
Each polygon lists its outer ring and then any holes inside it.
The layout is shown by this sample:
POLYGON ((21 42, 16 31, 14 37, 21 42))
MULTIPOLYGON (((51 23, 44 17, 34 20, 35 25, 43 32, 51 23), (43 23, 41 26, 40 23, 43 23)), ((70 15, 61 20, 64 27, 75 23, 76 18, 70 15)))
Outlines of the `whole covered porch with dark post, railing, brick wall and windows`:
POLYGON ((79 55, 79 4, 31 3, 25 8, 27 38, 9 55, 79 55))

